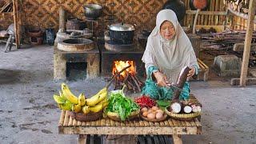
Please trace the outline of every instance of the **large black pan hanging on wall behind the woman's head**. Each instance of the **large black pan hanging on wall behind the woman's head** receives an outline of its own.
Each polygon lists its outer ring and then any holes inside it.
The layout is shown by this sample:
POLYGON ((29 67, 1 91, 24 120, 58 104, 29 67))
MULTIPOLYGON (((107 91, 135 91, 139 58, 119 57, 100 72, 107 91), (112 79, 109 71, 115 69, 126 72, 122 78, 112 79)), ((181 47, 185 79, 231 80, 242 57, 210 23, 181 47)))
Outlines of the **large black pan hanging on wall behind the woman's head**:
POLYGON ((186 14, 186 6, 181 0, 169 0, 162 6, 162 9, 174 10, 178 22, 181 22, 186 14))

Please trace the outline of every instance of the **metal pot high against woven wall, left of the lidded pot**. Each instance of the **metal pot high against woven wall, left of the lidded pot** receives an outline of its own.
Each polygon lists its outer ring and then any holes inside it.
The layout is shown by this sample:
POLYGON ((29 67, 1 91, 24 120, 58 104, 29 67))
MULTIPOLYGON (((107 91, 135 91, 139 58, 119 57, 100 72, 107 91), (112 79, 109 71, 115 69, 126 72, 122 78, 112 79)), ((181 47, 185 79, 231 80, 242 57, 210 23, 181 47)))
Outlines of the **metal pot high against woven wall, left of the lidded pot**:
POLYGON ((102 14, 102 6, 98 4, 87 4, 84 10, 87 19, 97 19, 102 14))

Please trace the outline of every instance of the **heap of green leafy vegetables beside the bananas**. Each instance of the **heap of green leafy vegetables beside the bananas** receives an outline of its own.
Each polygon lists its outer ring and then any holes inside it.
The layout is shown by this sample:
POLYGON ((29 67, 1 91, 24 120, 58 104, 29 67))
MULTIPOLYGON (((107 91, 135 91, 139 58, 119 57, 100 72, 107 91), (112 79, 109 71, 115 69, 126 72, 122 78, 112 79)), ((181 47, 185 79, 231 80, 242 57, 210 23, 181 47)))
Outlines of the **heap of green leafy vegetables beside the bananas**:
POLYGON ((125 121, 131 112, 139 110, 137 103, 125 97, 123 89, 110 92, 109 102, 106 112, 118 113, 122 121, 125 121))

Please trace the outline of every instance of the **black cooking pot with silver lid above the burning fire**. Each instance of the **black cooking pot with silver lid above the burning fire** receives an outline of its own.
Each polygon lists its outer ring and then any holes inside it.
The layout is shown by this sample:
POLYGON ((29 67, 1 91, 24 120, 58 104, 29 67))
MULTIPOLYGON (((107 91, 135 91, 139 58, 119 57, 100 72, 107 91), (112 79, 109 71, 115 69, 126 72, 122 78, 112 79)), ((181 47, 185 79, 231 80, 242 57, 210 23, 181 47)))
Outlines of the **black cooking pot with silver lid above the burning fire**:
POLYGON ((131 44, 134 39, 134 25, 116 23, 109 26, 110 42, 114 44, 131 44))

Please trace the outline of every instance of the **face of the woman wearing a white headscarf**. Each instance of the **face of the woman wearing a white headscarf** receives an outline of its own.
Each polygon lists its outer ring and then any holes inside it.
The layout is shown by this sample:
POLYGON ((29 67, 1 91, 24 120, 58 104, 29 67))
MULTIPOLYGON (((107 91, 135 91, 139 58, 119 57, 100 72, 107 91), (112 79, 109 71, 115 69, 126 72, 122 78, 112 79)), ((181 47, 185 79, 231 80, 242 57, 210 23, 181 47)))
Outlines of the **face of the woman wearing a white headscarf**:
POLYGON ((162 38, 165 38, 166 40, 174 38, 176 32, 173 23, 169 21, 162 22, 162 25, 160 26, 160 34, 162 38))

